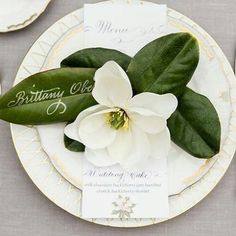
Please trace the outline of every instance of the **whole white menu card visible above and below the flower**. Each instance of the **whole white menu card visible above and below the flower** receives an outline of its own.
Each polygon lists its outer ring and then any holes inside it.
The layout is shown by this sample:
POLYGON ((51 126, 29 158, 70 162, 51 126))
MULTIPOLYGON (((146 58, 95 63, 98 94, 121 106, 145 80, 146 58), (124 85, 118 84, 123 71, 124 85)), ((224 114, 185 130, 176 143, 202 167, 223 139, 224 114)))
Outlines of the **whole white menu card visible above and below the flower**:
MULTIPOLYGON (((133 56, 166 31, 166 6, 86 4, 85 46, 104 47, 133 56)), ((85 218, 168 217, 166 158, 140 170, 121 166, 83 168, 82 215, 85 218)))

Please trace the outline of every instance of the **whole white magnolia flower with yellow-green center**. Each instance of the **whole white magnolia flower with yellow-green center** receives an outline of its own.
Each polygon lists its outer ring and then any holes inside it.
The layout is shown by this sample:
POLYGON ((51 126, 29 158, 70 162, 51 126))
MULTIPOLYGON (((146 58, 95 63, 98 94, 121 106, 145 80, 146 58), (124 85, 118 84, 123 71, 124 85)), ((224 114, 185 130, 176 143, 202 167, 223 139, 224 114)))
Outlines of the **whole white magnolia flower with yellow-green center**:
POLYGON ((166 157, 167 119, 177 107, 176 97, 149 92, 133 96, 127 74, 114 61, 99 68, 94 80, 92 95, 98 105, 82 111, 65 128, 68 137, 85 145, 87 160, 129 169, 150 157, 166 157))

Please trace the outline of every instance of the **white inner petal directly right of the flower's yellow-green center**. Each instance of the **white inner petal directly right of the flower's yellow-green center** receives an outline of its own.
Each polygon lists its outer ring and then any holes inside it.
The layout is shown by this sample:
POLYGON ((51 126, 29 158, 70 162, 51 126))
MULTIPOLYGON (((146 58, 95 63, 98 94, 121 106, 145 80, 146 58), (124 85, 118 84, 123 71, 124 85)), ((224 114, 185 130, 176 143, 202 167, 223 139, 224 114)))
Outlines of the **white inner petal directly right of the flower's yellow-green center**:
POLYGON ((143 108, 133 108, 128 112, 130 122, 133 122, 144 132, 159 133, 166 127, 166 119, 143 108))

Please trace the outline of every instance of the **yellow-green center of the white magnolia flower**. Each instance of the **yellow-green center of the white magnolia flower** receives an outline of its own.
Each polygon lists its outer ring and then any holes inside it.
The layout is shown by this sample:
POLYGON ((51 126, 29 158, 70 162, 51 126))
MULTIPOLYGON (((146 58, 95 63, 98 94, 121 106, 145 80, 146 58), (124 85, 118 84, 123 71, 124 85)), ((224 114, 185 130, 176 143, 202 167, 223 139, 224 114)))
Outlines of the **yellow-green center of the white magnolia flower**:
POLYGON ((109 113, 108 122, 113 129, 128 129, 129 127, 129 118, 126 112, 122 109, 118 111, 113 111, 109 113))

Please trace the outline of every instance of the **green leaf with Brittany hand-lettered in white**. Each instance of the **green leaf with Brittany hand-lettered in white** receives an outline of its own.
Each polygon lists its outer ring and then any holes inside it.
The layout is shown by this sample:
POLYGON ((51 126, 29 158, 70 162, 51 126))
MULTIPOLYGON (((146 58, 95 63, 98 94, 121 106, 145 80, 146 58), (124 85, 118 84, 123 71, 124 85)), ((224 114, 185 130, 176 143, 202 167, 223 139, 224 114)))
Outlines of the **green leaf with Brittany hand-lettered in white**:
POLYGON ((62 68, 34 74, 0 98, 0 119, 16 124, 74 120, 94 104, 95 69, 62 68))

